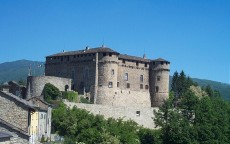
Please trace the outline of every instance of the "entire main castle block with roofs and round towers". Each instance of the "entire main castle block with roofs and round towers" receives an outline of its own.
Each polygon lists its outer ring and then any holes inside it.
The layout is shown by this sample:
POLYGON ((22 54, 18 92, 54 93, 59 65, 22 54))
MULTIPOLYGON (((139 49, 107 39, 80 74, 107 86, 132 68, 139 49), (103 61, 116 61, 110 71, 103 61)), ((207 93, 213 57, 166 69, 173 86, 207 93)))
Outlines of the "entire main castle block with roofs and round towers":
POLYGON ((120 54, 107 47, 46 57, 45 75, 72 79, 94 104, 157 107, 168 97, 170 62, 120 54))

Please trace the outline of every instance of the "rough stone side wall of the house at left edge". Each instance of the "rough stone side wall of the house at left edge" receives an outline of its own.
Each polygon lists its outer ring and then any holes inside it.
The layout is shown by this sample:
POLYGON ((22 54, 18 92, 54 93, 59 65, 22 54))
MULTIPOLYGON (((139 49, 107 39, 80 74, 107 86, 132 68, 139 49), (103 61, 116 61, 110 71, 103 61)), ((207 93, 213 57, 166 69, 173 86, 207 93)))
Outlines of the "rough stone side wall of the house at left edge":
POLYGON ((0 93, 0 116, 8 123, 28 131, 28 107, 4 93, 0 93))

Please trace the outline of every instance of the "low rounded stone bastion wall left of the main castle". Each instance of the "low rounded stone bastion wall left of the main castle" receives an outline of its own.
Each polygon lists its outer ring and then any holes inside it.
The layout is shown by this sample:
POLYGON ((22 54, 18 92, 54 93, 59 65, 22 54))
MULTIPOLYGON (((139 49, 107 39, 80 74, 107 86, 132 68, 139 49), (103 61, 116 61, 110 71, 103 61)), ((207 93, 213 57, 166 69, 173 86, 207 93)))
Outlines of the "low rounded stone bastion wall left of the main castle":
POLYGON ((65 91, 66 85, 68 85, 69 88, 71 87, 71 79, 54 76, 29 76, 27 78, 26 98, 41 96, 44 86, 47 83, 53 84, 60 91, 65 91))

